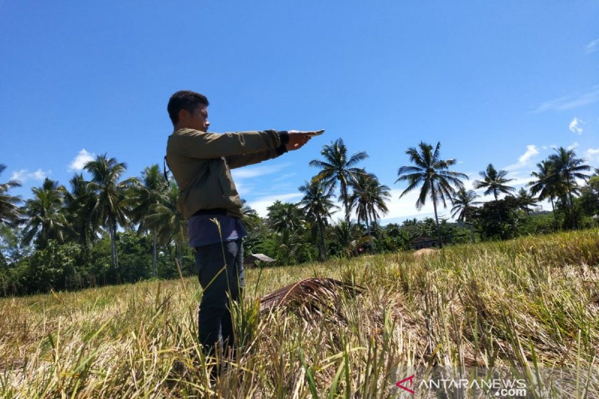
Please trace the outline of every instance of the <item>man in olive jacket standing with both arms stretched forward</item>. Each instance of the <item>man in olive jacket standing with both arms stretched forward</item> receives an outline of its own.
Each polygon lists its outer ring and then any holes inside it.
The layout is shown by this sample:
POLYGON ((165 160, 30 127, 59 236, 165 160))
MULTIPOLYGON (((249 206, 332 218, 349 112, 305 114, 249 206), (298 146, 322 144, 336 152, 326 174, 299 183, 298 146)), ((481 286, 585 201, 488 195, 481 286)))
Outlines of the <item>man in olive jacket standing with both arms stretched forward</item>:
POLYGON ((297 150, 315 132, 207 133, 208 99, 189 90, 174 93, 168 115, 167 163, 179 185, 177 206, 187 219, 204 293, 198 311, 199 341, 206 355, 234 345, 227 293, 237 301, 244 286, 241 200, 230 169, 297 150), (214 221, 218 223, 214 223, 214 221))

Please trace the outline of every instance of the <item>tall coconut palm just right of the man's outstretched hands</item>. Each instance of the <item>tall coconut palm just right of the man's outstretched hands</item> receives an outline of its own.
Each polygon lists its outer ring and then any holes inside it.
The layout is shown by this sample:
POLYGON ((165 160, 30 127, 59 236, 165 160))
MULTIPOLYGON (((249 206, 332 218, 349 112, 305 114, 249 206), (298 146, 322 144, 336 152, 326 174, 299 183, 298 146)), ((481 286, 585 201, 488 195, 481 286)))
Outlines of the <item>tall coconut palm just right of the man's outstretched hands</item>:
POLYGON ((320 154, 324 157, 324 160, 311 160, 310 166, 318 167, 322 169, 316 176, 317 179, 321 179, 327 188, 335 190, 337 184, 341 193, 341 200, 343 200, 343 206, 345 208, 345 220, 349 222, 349 186, 352 182, 356 181, 358 173, 362 172, 362 169, 356 167, 359 162, 368 158, 368 154, 365 151, 353 154, 351 157, 347 157, 347 147, 343 143, 343 139, 337 139, 331 144, 326 144, 322 147, 320 154))

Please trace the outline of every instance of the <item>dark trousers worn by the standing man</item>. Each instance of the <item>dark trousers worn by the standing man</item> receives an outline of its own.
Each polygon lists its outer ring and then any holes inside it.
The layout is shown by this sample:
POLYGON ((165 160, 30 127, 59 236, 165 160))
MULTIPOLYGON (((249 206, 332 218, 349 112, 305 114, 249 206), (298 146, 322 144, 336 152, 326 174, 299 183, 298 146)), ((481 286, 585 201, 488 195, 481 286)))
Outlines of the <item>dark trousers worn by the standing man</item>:
POLYGON ((227 294, 237 301, 243 291, 243 246, 237 239, 195 249, 199 284, 204 290, 198 310, 198 337, 204 354, 213 355, 215 344, 224 351, 234 346, 227 294))

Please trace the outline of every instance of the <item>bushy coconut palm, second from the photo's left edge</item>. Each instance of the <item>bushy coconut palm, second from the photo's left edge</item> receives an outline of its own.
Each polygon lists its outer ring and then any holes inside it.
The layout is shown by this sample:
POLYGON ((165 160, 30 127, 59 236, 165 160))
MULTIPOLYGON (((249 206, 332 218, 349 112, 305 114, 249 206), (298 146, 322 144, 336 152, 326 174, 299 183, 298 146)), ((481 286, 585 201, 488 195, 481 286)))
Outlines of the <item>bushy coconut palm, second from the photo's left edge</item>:
POLYGON ((64 187, 46 178, 41 187, 31 189, 34 197, 25 202, 23 209, 28 220, 23 229, 23 243, 29 245, 35 239, 38 248, 45 248, 49 240, 64 242, 65 235, 72 233, 63 212, 64 187))

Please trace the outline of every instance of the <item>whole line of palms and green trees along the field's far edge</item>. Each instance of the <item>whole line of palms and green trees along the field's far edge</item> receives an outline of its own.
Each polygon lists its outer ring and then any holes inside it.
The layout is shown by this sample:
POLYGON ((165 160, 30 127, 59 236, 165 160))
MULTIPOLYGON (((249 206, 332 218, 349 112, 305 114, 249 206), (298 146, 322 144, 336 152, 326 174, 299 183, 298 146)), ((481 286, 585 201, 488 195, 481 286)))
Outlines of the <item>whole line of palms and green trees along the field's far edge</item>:
MULTIPOLYGON (((440 147, 420 142, 409 148, 410 165, 398 169, 395 181, 407 183, 401 197, 418 192, 416 208, 431 200, 434 218, 380 226, 391 189, 359 167, 367 153, 349 155, 343 139, 337 139, 323 146, 320 159, 310 161, 318 172, 298 188, 303 194, 298 203, 277 201, 262 218, 243 201, 249 232, 245 253, 294 264, 411 249, 419 239, 432 237, 441 247, 596 223, 599 170, 585 173, 591 167, 574 150, 557 148, 517 193, 506 170, 489 163, 473 182, 483 195, 494 197, 482 203, 475 191, 465 189, 468 176, 452 170, 455 159, 442 159, 440 147), (542 200, 550 200, 551 212, 538 212, 542 200), (451 206, 456 223, 439 215, 441 206, 451 206), (343 217, 335 222, 337 212, 343 217)), ((5 168, 0 165, 0 174, 5 168)), ((177 209, 179 191, 165 170, 152 165, 125 179, 126 164, 107 154, 84 170, 89 179, 76 173, 68 188, 46 178, 25 201, 10 194, 19 181, 0 184, 1 295, 195 274, 186 220, 177 209)))

